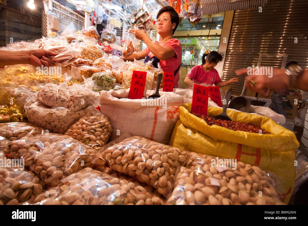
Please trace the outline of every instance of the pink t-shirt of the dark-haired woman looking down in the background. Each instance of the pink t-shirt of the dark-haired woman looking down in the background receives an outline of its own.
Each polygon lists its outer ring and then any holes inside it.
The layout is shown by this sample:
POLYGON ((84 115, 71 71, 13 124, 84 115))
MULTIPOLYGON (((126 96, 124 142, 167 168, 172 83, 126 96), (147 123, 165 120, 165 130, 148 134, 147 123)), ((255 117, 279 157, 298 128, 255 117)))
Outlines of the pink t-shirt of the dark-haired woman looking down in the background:
POLYGON ((209 72, 205 72, 202 65, 193 66, 192 69, 186 75, 191 79, 197 80, 197 82, 201 83, 208 83, 208 84, 215 84, 217 85, 221 79, 219 74, 215 68, 211 69, 209 72))

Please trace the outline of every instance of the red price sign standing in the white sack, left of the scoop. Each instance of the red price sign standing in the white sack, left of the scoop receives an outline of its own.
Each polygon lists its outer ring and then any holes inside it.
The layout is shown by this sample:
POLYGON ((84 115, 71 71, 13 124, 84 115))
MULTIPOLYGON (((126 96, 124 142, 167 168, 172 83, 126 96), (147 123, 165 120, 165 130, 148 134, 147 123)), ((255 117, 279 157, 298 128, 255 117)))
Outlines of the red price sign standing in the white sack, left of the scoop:
POLYGON ((141 99, 144 93, 144 85, 147 73, 144 71, 133 71, 131 88, 129 89, 129 99, 141 99))

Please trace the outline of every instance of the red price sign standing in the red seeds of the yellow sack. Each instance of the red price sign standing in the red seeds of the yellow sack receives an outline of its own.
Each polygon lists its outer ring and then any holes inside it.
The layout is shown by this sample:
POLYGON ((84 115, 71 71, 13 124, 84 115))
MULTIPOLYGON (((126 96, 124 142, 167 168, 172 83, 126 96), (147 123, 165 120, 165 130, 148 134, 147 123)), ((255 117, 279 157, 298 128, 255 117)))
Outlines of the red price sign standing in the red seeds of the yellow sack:
POLYGON ((209 88, 203 85, 193 85, 193 103, 191 112, 208 114, 209 88))

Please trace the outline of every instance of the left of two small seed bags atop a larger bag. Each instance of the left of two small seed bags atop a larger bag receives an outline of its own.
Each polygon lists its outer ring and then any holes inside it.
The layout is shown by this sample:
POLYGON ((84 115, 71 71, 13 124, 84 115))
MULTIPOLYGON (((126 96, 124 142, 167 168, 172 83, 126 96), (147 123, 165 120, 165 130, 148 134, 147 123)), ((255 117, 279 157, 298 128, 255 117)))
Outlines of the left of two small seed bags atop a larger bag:
POLYGON ((63 107, 68 108, 68 99, 70 97, 67 92, 67 83, 47 83, 42 86, 38 92, 39 100, 49 107, 63 107))

